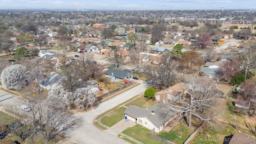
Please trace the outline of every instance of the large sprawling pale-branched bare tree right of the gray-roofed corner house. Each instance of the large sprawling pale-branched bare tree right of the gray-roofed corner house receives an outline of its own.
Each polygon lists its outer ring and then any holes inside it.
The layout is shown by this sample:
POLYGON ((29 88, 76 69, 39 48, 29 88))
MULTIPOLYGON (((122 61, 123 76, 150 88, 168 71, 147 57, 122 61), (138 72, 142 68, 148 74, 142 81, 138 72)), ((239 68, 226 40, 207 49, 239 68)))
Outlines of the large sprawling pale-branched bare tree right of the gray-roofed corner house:
MULTIPOLYGON (((197 77, 185 77, 187 87, 184 96, 179 101, 165 100, 162 104, 176 114, 176 120, 184 118, 188 127, 192 126, 192 117, 212 124, 217 116, 214 113, 216 93, 213 89, 213 80, 204 80, 197 77)), ((166 114, 166 112, 163 112, 166 114)))

